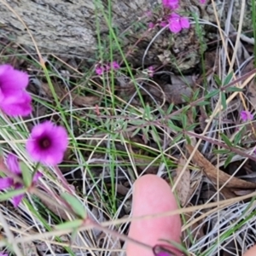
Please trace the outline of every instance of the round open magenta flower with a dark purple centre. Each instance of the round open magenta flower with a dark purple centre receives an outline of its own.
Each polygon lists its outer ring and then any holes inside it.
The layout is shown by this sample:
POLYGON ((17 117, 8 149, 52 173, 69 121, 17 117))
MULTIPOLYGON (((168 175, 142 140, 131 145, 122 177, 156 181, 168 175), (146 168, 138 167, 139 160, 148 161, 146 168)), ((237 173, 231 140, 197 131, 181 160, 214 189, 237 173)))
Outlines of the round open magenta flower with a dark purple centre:
POLYGON ((67 144, 65 128, 46 121, 33 127, 26 142, 26 150, 33 160, 46 166, 55 166, 63 160, 67 144))

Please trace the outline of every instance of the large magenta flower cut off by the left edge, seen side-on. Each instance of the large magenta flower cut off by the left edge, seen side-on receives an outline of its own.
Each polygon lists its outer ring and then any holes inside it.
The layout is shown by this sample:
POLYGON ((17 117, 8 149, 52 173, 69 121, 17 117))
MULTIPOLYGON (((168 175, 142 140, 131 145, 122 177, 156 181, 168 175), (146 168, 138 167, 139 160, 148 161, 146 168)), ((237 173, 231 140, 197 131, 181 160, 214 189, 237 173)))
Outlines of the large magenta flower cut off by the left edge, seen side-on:
POLYGON ((26 91, 28 75, 10 65, 0 66, 0 109, 9 116, 32 112, 32 98, 26 91))

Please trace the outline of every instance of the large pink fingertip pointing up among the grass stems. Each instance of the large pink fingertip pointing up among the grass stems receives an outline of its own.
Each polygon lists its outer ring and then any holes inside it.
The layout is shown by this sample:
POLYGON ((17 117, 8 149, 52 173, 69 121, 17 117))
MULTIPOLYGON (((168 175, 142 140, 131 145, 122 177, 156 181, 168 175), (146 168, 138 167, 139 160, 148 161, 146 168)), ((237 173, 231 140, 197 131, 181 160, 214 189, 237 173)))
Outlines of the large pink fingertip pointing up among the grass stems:
MULTIPOLYGON (((134 183, 132 217, 138 217, 177 209, 172 189, 160 177, 152 174, 139 177, 134 183)), ((180 242, 181 220, 179 215, 131 221, 129 236, 154 247, 163 243, 160 239, 180 242)), ((147 248, 127 242, 127 256, 152 256, 147 248)))

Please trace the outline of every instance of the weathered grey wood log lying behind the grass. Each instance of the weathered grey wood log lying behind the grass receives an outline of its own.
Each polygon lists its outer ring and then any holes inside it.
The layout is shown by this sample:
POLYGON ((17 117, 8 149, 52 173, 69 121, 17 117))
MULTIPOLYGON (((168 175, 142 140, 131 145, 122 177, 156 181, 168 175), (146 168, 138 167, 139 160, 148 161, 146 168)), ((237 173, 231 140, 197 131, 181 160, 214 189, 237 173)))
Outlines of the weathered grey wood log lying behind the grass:
MULTIPOLYGON (((137 40, 147 30, 146 22, 144 22, 144 26, 132 26, 132 24, 145 17, 150 10, 154 10, 154 15, 149 17, 148 21, 155 21, 163 15, 163 9, 160 8, 160 3, 157 0, 113 0, 110 2, 111 26, 118 33, 119 42, 125 53, 128 52, 128 48, 137 44, 137 40), (158 9, 157 6, 159 6, 158 9)), ((226 2, 229 3, 224 5, 219 0, 215 0, 218 15, 223 22, 231 1, 226 2)), ((232 18, 234 26, 237 26, 237 20, 239 20, 240 3, 240 0, 235 0, 235 15, 232 18)), ((251 0, 247 0, 249 14, 250 3, 251 0)), ((215 22, 211 0, 204 5, 201 5, 199 0, 180 0, 180 4, 179 13, 188 15, 193 13, 201 19, 215 22)), ((14 38, 18 44, 33 47, 32 38, 26 30, 27 26, 38 48, 43 52, 95 58, 98 34, 101 35, 103 44, 104 42, 108 43, 108 21, 104 18, 102 10, 107 16, 109 15, 107 0, 0 0, 0 32, 2 36, 14 38)), ((252 23, 248 18, 245 20, 249 24, 252 23)), ((139 43, 133 48, 128 60, 141 65, 145 49, 159 30, 160 27, 146 33, 145 37, 139 40, 139 43)), ((206 34, 204 31, 203 33, 206 34)), ((159 63, 161 58, 169 55, 168 61, 173 62, 172 57, 176 60, 173 67, 177 66, 182 70, 188 69, 200 61, 199 44, 200 40, 195 33, 194 26, 177 35, 166 30, 154 40, 147 52, 144 64, 159 63)))

